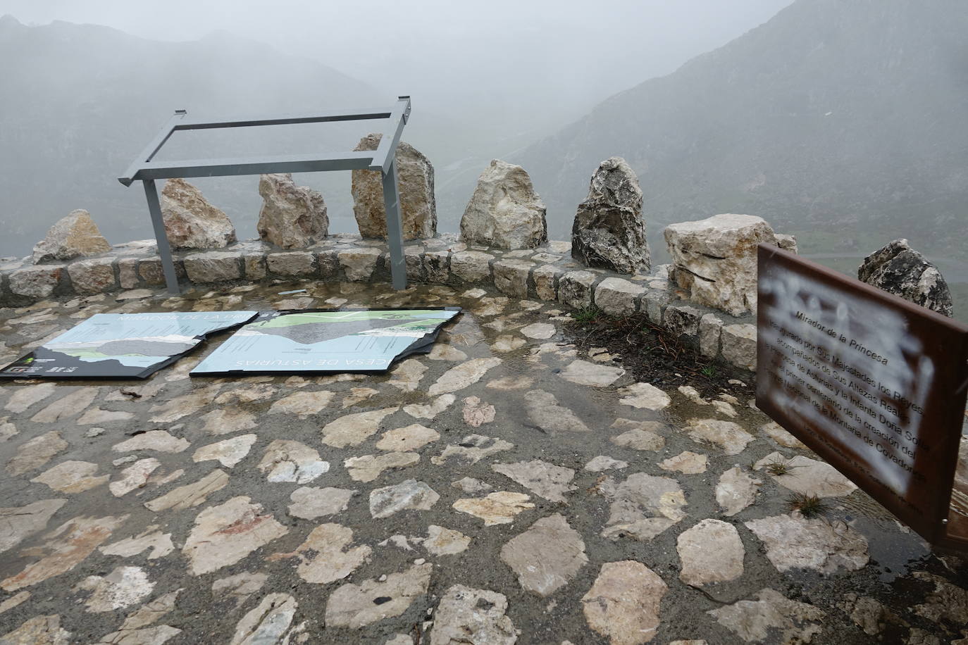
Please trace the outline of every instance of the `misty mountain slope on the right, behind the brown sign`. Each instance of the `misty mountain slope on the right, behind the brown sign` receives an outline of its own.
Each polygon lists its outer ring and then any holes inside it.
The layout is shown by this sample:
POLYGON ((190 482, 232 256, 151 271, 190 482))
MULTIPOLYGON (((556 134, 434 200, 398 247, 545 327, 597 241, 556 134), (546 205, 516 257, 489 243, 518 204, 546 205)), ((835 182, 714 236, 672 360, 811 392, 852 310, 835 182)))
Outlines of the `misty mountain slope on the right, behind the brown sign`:
POLYGON ((515 161, 556 237, 596 165, 619 155, 639 175, 653 236, 737 212, 829 244, 906 236, 965 249, 965 33, 960 0, 799 0, 515 161))

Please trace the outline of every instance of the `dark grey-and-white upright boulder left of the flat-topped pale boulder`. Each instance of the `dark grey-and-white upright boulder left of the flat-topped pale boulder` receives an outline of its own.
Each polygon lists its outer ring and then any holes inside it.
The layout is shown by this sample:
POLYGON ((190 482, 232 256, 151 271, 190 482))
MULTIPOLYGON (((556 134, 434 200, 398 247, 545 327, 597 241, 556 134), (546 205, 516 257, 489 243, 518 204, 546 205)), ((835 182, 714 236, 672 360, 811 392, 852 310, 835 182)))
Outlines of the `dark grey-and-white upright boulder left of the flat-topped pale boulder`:
POLYGON ((578 205, 571 227, 571 256, 620 274, 650 269, 642 189, 620 157, 602 161, 591 175, 589 196, 578 205))

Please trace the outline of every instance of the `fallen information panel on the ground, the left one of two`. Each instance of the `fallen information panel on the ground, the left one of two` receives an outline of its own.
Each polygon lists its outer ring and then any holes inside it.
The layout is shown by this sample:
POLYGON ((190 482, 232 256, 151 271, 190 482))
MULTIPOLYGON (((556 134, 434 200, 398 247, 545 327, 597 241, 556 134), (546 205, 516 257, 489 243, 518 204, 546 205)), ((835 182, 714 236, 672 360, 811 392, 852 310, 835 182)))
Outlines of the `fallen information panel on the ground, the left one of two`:
POLYGON ((0 369, 8 378, 147 378, 257 311, 96 313, 0 369))

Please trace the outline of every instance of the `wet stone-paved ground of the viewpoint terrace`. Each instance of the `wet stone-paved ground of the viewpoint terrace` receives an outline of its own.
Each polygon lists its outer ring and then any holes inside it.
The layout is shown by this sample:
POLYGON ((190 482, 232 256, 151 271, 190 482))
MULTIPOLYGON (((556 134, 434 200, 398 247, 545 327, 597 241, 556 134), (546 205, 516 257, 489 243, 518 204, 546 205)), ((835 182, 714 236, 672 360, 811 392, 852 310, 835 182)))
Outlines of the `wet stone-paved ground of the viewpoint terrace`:
POLYGON ((6 384, 0 643, 968 642, 964 562, 748 385, 662 392, 478 289, 288 288, 3 310, 12 360, 105 311, 466 308, 385 375, 6 384))

